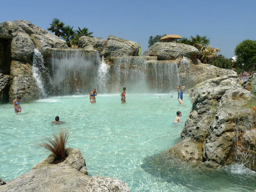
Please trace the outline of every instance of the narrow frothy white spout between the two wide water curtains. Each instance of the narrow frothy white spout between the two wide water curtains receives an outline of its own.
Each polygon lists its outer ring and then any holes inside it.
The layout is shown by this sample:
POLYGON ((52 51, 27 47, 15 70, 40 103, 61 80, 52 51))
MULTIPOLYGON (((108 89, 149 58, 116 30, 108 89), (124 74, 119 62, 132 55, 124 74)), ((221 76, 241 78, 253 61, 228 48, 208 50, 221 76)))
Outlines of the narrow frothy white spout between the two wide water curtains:
POLYGON ((98 89, 101 93, 108 93, 108 81, 110 78, 109 74, 110 67, 105 63, 104 56, 102 56, 102 62, 98 69, 98 89))

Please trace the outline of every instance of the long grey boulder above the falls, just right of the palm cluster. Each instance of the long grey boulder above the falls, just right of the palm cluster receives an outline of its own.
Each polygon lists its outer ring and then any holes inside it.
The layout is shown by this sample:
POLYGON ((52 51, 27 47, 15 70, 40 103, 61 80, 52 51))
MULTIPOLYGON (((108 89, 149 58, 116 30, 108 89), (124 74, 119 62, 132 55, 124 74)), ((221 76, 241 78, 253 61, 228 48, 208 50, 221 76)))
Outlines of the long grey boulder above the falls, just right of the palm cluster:
POLYGON ((78 47, 85 50, 97 50, 100 56, 106 58, 106 62, 112 57, 138 56, 139 46, 136 42, 108 36, 108 39, 82 36, 78 47))

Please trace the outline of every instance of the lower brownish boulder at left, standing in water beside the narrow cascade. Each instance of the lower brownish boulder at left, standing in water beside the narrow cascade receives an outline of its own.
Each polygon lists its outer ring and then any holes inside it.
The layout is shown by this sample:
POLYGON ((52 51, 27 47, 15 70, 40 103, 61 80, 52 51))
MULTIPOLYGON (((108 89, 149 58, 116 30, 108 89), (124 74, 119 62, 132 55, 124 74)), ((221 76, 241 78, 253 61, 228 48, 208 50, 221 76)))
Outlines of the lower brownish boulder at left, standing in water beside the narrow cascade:
POLYGON ((39 89, 33 76, 32 66, 18 61, 12 61, 10 72, 9 101, 12 102, 17 96, 22 101, 37 100, 39 89))

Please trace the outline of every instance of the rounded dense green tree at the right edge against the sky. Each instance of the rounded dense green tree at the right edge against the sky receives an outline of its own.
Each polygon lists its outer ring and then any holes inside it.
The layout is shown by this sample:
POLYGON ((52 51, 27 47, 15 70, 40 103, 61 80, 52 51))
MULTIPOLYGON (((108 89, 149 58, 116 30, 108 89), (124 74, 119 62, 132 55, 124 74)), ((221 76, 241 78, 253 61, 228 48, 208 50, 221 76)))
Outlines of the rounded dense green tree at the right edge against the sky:
POLYGON ((250 70, 256 65, 256 41, 244 40, 236 46, 236 63, 241 69, 250 70))

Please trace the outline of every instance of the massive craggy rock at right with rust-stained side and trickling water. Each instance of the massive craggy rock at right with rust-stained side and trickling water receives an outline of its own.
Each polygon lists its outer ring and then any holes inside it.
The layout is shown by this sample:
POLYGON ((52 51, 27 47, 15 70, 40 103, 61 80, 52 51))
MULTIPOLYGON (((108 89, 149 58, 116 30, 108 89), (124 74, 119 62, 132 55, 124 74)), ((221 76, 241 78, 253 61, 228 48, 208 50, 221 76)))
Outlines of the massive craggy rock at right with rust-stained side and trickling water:
POLYGON ((256 170, 256 95, 248 89, 255 80, 254 75, 240 87, 237 78, 222 76, 197 84, 184 140, 165 154, 210 168, 243 163, 256 170))

